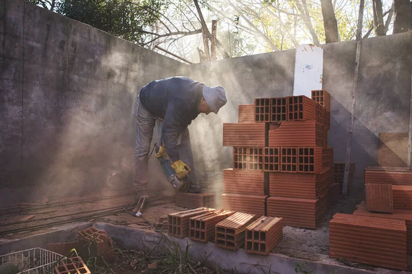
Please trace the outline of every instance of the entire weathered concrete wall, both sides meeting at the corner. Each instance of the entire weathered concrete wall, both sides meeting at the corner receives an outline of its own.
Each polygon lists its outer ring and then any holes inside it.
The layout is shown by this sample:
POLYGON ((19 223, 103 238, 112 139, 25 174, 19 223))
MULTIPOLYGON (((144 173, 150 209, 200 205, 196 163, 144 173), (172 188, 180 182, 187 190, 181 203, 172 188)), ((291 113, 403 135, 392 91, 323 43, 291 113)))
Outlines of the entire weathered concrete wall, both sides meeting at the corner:
MULTIPOLYGON (((187 75, 227 90, 229 102, 218 115, 201 114, 190 125, 203 175, 219 176, 231 166, 222 123, 238 121, 239 104, 293 94, 294 50, 186 66, 23 0, 1 1, 0 18, 3 188, 130 186, 133 100, 153 79, 187 75)), ((356 42, 321 47, 323 88, 332 95, 329 144, 334 160, 343 162, 356 42)), ((412 32, 363 40, 352 137, 358 178, 376 164, 379 132, 408 130, 411 66, 412 32)))

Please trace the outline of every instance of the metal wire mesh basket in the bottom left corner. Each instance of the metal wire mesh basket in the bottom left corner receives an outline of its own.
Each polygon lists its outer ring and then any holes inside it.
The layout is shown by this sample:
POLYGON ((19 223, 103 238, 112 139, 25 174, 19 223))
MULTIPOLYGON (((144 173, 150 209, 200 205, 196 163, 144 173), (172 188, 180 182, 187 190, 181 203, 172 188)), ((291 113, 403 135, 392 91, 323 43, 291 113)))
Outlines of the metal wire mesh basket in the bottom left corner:
POLYGON ((62 255, 36 247, 0 256, 0 265, 12 262, 19 268, 19 273, 40 274, 54 273, 54 266, 63 258, 62 255))

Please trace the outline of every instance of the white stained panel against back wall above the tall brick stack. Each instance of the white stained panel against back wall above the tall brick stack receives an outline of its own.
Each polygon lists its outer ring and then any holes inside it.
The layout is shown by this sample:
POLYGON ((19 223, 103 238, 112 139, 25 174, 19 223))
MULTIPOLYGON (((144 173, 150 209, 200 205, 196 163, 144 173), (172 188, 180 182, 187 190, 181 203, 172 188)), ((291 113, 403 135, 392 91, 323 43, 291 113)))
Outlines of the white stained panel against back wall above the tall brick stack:
POLYGON ((314 45, 296 48, 293 95, 311 97, 312 90, 322 89, 323 49, 314 45))

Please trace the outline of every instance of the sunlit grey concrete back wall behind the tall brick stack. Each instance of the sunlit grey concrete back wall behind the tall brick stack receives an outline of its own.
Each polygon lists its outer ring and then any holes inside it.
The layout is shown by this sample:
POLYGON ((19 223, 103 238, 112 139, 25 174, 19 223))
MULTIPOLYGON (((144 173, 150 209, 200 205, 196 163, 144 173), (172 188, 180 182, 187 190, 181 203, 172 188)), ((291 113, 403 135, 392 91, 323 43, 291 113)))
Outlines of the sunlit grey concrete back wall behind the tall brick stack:
MULTIPOLYGON (((323 88, 332 95, 328 144, 334 161, 345 162, 352 102, 356 41, 330 43, 323 48, 323 88)), ((192 125, 193 146, 202 151, 198 162, 212 171, 231 166, 231 149, 222 149, 222 123, 237 122, 238 104, 256 97, 293 95, 295 51, 265 53, 190 66, 188 75, 206 84, 221 85, 229 103, 205 123, 192 125), (196 69, 194 69, 196 68, 196 69), (205 155, 207 155, 205 157, 205 155)), ((377 164, 379 132, 408 132, 411 96, 412 32, 362 41, 352 162, 356 177, 377 164)), ((201 119, 199 119, 201 120, 201 119)))

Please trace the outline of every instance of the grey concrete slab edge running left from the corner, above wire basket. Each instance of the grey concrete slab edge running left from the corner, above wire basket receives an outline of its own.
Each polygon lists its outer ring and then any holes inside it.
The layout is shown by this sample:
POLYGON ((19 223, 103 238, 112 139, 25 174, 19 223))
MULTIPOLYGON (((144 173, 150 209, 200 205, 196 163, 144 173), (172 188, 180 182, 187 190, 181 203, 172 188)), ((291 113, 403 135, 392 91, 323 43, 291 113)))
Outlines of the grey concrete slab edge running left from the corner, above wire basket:
POLYGON ((71 242, 76 240, 78 231, 91 227, 92 223, 70 223, 54 227, 52 232, 44 232, 24 238, 15 240, 0 239, 0 255, 11 253, 14 251, 21 251, 31 249, 34 247, 46 248, 47 243, 50 242, 71 242))

